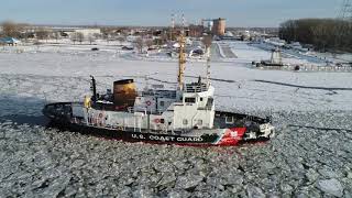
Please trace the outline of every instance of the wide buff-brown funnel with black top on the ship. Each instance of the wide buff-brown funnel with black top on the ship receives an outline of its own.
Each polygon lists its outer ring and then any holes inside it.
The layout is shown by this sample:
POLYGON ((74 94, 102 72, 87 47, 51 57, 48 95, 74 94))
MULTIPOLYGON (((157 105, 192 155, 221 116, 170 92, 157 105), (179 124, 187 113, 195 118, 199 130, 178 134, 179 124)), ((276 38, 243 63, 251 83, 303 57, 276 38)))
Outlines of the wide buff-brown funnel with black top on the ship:
POLYGON ((133 79, 118 80, 113 82, 113 103, 121 109, 134 106, 136 88, 133 79))

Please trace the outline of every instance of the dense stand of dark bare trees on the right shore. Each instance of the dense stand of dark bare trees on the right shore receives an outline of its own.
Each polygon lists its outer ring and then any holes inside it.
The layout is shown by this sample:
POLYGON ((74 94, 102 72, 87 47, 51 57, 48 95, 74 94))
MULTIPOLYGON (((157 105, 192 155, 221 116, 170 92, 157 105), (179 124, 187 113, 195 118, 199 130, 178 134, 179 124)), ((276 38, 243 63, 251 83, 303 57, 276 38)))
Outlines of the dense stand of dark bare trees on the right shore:
POLYGON ((288 20, 278 35, 287 42, 311 44, 321 52, 352 52, 352 22, 338 19, 288 20))

